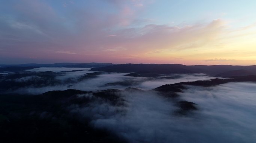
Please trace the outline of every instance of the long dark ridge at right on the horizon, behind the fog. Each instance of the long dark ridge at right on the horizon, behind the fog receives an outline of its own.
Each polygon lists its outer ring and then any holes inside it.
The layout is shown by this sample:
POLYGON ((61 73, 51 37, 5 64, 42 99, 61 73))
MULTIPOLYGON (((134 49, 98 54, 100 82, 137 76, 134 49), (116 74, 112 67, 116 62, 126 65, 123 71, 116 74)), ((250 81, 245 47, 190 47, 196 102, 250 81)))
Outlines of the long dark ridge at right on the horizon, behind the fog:
POLYGON ((256 65, 254 66, 231 66, 231 65, 214 65, 214 66, 186 66, 182 64, 117 64, 106 67, 95 67, 93 71, 133 73, 135 76, 141 73, 154 74, 192 74, 205 73, 211 76, 247 76, 256 75, 256 65))

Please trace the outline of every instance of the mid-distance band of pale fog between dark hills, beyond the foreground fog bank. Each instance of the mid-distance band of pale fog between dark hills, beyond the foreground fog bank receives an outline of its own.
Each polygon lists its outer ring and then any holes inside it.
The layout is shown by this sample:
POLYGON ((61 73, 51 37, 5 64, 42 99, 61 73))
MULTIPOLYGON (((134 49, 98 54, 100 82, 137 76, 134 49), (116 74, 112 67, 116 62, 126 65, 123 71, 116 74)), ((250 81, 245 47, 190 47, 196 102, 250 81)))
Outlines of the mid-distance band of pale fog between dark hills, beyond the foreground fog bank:
MULTIPOLYGON (((63 67, 41 67, 38 69, 31 69, 27 71, 72 71, 67 72, 63 76, 57 76, 56 79, 65 80, 68 78, 78 78, 83 76, 86 73, 93 73, 95 71, 90 71, 90 68, 63 68, 63 67), (79 71, 78 71, 79 70, 79 71)), ((161 85, 165 84, 173 84, 179 82, 188 82, 188 81, 196 81, 196 80, 208 80, 214 77, 207 76, 205 74, 173 74, 170 75, 171 78, 152 78, 152 77, 130 77, 124 76, 128 73, 110 73, 110 72, 102 72, 102 74, 98 75, 96 78, 85 79, 82 81, 77 81, 72 84, 64 84, 61 86, 47 86, 42 88, 23 88, 19 89, 17 92, 26 92, 31 94, 40 94, 51 90, 65 90, 65 89, 77 89, 77 90, 86 90, 86 91, 94 91, 94 90, 104 90, 104 89, 125 89, 128 87, 139 88, 143 90, 150 90, 153 88, 157 88, 161 85), (172 78, 173 77, 173 78, 172 78), (109 84, 108 84, 109 83, 109 84), (107 85, 106 85, 107 84, 107 85), (71 85, 71 86, 70 86, 71 85)))

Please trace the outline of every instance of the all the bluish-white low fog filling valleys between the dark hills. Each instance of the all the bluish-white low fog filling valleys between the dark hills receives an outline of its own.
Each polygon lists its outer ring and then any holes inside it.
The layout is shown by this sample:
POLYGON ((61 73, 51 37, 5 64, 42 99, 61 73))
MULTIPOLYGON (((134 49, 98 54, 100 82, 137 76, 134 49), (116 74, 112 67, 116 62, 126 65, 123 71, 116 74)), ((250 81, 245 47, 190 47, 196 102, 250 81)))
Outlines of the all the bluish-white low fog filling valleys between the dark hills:
MULTIPOLYGON (((32 71, 68 71, 58 79, 76 78, 92 73, 89 68, 39 68, 32 71)), ((144 90, 161 85, 208 80, 205 74, 171 75, 178 78, 161 79, 128 77, 127 73, 103 73, 96 78, 82 80, 71 86, 79 90, 125 89, 135 87, 144 90), (136 85, 105 86, 107 83, 136 80, 136 85)), ((90 107, 67 107, 71 112, 92 118, 91 125, 104 128, 131 143, 253 143, 256 140, 256 83, 226 83, 218 86, 186 86, 177 99, 165 98, 153 91, 122 91, 126 106, 98 104, 90 107), (175 102, 194 102, 197 111, 177 116, 175 102), (121 112, 119 112, 121 111, 121 112)), ((67 85, 43 88, 20 89, 20 92, 43 93, 50 90, 65 90, 67 85)), ((83 95, 80 95, 83 96, 83 95)), ((85 95, 88 96, 88 95, 85 95)))

